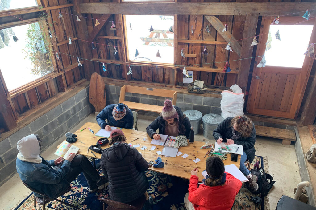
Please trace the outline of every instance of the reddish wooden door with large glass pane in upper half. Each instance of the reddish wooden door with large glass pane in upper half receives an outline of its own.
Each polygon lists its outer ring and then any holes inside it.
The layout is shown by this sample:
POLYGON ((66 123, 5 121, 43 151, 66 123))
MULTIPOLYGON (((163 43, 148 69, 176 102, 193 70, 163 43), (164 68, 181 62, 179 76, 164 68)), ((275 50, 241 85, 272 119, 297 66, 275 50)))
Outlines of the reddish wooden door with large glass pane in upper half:
MULTIPOLYGON (((316 19, 306 20, 302 17, 282 16, 280 17, 279 25, 270 25, 273 19, 274 17, 262 17, 260 35, 257 37, 259 44, 256 56, 259 57, 255 58, 247 111, 251 114, 294 119, 298 112, 298 108, 301 105, 307 79, 314 60, 305 56, 301 58, 300 62, 296 62, 294 61, 295 58, 291 58, 291 55, 293 55, 295 51, 299 52, 300 55, 304 54, 307 50, 307 45, 316 42, 316 19), (280 33, 281 41, 276 40, 274 33, 270 34, 269 37, 269 30, 272 31, 272 29, 276 30, 277 28, 280 28, 280 31, 281 28, 289 30, 289 27, 295 30, 293 31, 293 34, 294 32, 303 34, 290 41, 287 40, 287 38, 289 38, 289 34, 291 33, 280 33), (306 27, 309 32, 298 32, 300 31, 298 30, 298 27, 306 27), (300 46, 305 45, 305 43, 303 45, 297 45, 298 40, 303 36, 305 36, 305 39, 301 40, 306 40, 305 42, 308 43, 304 46, 304 49, 298 49, 300 46), (277 53, 273 53, 273 58, 271 58, 270 51, 269 58, 266 57, 266 60, 269 59, 270 63, 268 63, 267 60, 267 65, 265 67, 257 68, 256 66, 262 59, 261 56, 268 54, 266 51, 268 37, 269 40, 271 40, 271 38, 276 40, 273 40, 274 46, 281 45, 278 42, 282 42, 283 40, 283 42, 287 42, 286 44, 289 48, 286 48, 283 45, 283 48, 278 49, 277 53), (291 50, 292 52, 289 53, 291 50), (285 54, 288 54, 288 59, 285 58, 285 54)), ((277 47, 275 47, 272 52, 275 52, 276 49, 277 47)))

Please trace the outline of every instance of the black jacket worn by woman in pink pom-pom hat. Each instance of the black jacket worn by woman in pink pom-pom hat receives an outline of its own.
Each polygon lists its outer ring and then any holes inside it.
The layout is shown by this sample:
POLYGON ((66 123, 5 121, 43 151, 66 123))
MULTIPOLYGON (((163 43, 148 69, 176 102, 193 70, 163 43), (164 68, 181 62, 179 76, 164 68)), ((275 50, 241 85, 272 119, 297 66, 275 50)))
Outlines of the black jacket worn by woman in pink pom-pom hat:
MULTIPOLYGON (((179 135, 185 135, 187 139, 189 139, 191 122, 189 118, 186 117, 185 114, 181 111, 178 106, 173 106, 179 115, 179 135), (182 122, 182 123, 181 123, 182 122)), ((166 121, 162 118, 162 113, 154 120, 154 122, 150 123, 146 128, 146 132, 150 138, 153 138, 153 135, 156 133, 156 130, 159 128, 159 134, 166 134, 166 121)))

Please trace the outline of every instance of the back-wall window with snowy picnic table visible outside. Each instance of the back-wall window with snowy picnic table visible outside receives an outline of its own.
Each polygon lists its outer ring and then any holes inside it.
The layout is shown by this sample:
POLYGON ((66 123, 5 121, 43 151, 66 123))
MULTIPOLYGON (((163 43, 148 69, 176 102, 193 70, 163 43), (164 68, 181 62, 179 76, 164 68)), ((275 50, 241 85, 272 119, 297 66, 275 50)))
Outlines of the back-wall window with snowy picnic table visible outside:
POLYGON ((173 29, 173 16, 125 15, 128 60, 173 64, 173 32, 169 31, 170 27, 173 29))

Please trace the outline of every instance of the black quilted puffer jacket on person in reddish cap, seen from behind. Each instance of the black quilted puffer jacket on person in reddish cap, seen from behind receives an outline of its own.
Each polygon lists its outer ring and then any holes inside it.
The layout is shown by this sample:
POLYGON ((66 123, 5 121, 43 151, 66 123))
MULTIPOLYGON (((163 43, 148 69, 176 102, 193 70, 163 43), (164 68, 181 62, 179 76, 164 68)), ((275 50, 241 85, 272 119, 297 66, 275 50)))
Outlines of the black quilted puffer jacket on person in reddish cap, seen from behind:
POLYGON ((114 201, 127 203, 142 196, 149 188, 143 173, 148 167, 142 155, 127 143, 102 150, 101 168, 109 181, 109 195, 114 201))

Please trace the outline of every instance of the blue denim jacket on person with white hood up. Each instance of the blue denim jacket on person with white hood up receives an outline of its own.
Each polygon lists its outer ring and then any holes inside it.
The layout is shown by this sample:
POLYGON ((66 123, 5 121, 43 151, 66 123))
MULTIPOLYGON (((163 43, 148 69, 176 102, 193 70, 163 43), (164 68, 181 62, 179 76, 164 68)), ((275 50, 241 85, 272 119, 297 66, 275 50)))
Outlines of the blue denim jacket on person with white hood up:
MULTIPOLYGON (((71 162, 65 160, 63 165, 56 170, 54 160, 46 161, 42 158, 25 158, 19 153, 16 159, 16 170, 22 181, 27 183, 34 190, 46 194, 49 198, 56 198, 66 190, 70 183, 64 179, 65 174, 70 170, 71 162)), ((42 197, 34 193, 38 197, 42 197)))

